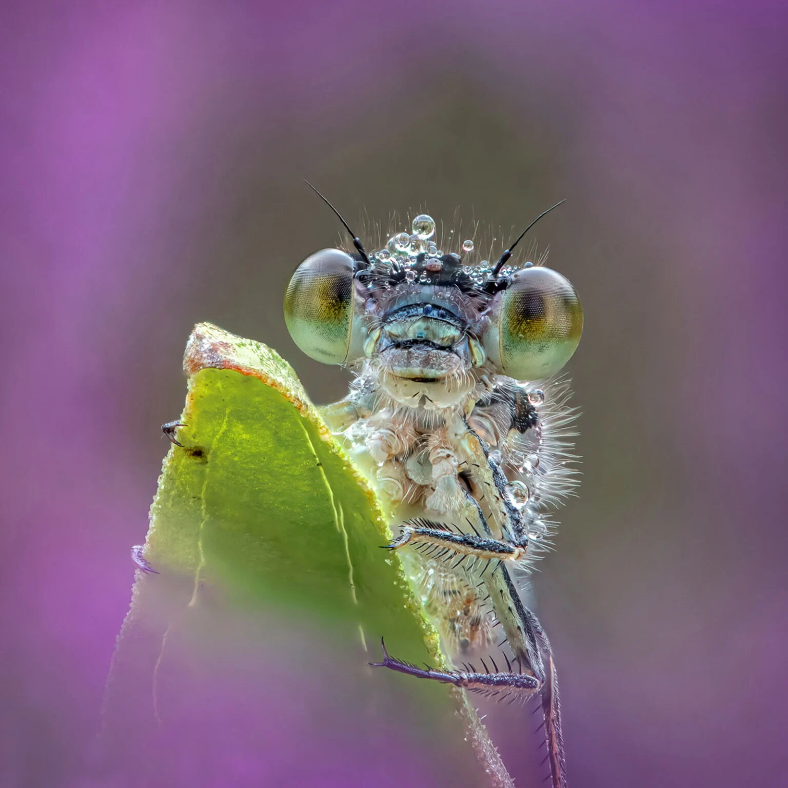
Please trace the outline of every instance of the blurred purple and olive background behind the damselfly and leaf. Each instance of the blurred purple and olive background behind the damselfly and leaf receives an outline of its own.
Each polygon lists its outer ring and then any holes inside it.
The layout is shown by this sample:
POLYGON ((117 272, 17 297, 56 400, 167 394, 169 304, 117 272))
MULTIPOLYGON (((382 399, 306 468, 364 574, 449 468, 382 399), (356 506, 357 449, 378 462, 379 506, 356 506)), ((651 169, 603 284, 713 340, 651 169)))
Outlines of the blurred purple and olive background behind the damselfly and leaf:
MULTIPOLYGON (((84 764, 191 325, 344 390, 281 314, 337 236, 302 177, 348 218, 459 206, 504 235, 567 198, 537 238, 585 307, 584 476, 535 585, 571 783, 788 779, 786 16, 5 3, 0 784, 104 784, 84 764)), ((497 735, 526 774, 518 721, 497 735)))

